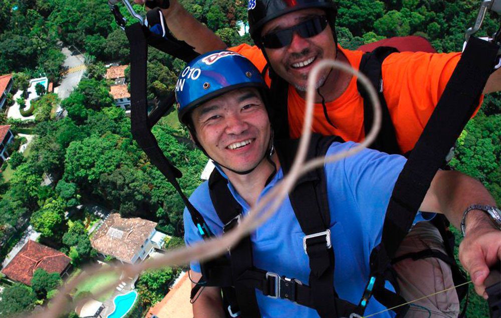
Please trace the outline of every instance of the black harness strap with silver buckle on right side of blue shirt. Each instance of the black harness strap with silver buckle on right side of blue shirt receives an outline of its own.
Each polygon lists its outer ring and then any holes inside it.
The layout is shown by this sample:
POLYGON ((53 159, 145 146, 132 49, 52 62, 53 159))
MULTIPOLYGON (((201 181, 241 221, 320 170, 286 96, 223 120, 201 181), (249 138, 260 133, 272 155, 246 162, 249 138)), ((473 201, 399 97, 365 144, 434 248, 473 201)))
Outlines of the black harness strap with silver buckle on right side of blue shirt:
MULTIPOLYGON (((325 155, 335 140, 340 138, 313 134, 307 160, 325 155)), ((278 141, 276 147, 285 175, 294 161, 298 140, 278 141)), ((310 261, 310 286, 315 309, 321 317, 332 316, 334 312, 342 315, 343 308, 336 302, 338 295, 333 285, 335 258, 330 241, 330 211, 323 167, 300 178, 289 198, 305 233, 303 248, 310 261)))

